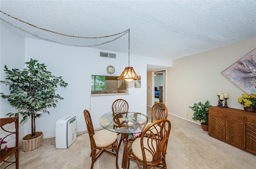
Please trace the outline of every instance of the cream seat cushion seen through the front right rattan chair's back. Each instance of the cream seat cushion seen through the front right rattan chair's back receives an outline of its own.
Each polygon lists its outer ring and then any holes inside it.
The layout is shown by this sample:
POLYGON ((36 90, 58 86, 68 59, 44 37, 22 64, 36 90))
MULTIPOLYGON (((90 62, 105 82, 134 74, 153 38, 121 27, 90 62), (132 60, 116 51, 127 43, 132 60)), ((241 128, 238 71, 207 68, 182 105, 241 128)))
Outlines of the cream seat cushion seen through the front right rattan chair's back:
MULTIPOLYGON (((150 147, 154 147, 154 149, 156 149, 156 141, 153 139, 148 139, 147 137, 145 137, 143 139, 143 145, 144 145, 144 148, 149 148, 148 147, 148 142, 150 143, 150 147), (149 141, 148 141, 149 140, 149 141), (151 141, 152 141, 152 144, 151 144, 151 141)), ((146 155, 146 161, 148 162, 152 162, 152 154, 146 150, 145 150, 145 155, 146 155)), ((143 156, 142 156, 142 149, 141 149, 141 146, 140 146, 140 139, 136 139, 133 143, 132 143, 132 152, 134 153, 134 155, 136 155, 136 157, 138 157, 139 159, 143 160, 143 156)))

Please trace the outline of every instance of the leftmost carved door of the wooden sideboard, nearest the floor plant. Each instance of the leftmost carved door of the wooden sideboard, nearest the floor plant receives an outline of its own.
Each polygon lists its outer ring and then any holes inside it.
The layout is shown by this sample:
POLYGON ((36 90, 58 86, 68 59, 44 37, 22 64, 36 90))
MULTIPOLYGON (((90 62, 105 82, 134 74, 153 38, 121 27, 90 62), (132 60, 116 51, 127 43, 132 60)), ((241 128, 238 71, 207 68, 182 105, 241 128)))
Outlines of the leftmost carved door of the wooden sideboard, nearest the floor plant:
POLYGON ((211 116, 211 133, 210 135, 225 140, 225 119, 215 115, 211 116))

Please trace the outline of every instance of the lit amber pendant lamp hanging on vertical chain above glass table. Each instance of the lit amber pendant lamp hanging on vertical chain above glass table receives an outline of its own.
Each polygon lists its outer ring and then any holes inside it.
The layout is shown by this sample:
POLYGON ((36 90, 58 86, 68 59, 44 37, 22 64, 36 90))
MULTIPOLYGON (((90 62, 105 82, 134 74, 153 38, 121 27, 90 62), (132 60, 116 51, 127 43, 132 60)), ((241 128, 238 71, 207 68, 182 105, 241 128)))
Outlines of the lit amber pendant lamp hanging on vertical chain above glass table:
POLYGON ((132 80, 140 80, 136 72, 130 67, 130 28, 128 29, 128 67, 124 68, 122 74, 117 80, 125 80, 126 82, 132 82, 132 80))

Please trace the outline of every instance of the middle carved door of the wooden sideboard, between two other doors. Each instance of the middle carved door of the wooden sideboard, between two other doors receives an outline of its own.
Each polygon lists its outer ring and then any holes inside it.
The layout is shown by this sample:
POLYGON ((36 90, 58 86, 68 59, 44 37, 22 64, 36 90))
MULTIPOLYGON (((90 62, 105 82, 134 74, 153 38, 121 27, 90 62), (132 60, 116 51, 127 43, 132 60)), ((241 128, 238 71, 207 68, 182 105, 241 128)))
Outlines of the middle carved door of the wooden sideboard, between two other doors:
POLYGON ((226 119, 226 141, 244 148, 244 123, 226 119))

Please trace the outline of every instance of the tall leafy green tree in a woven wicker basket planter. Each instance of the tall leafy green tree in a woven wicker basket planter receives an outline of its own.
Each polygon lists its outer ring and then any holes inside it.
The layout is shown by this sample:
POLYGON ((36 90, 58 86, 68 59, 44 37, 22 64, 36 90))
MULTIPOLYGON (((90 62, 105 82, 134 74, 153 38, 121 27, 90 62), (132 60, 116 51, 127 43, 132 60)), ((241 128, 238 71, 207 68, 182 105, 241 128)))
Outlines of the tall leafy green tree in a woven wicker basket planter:
POLYGON ((36 119, 43 113, 50 113, 47 108, 56 107, 58 100, 64 99, 56 94, 58 85, 66 87, 68 84, 62 80, 62 77, 53 76, 48 72, 44 64, 39 64, 37 60, 30 59, 26 62, 27 67, 23 70, 8 70, 4 66, 7 74, 2 84, 9 85, 10 94, 0 93, 1 97, 7 99, 10 105, 15 107, 18 112, 7 113, 9 117, 22 115, 22 123, 31 117, 31 134, 22 138, 22 150, 33 151, 42 145, 42 132, 36 132, 36 119), (40 139, 34 140, 34 139, 40 139), (30 145, 36 144, 36 145, 30 145), (29 147, 29 148, 27 148, 29 147))

